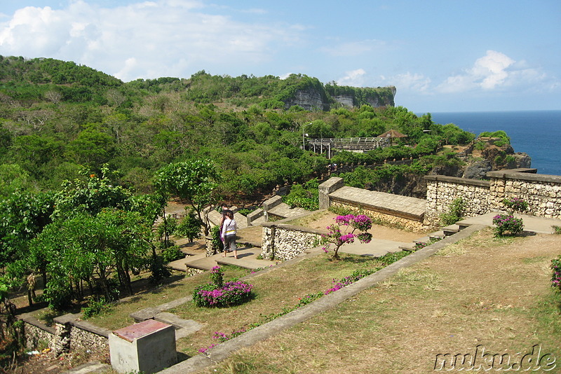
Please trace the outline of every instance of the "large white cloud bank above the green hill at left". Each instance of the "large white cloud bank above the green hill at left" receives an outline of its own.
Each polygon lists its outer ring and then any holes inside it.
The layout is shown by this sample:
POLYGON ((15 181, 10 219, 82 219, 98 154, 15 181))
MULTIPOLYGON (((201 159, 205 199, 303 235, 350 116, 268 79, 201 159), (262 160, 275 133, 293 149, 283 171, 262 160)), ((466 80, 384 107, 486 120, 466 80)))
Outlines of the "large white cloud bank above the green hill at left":
POLYGON ((0 22, 0 55, 72 60, 130 81, 164 76, 163 71, 182 77, 187 69, 190 75, 224 61, 241 66, 271 61, 276 46, 298 39, 290 25, 236 22, 215 13, 187 0, 26 7, 0 22))

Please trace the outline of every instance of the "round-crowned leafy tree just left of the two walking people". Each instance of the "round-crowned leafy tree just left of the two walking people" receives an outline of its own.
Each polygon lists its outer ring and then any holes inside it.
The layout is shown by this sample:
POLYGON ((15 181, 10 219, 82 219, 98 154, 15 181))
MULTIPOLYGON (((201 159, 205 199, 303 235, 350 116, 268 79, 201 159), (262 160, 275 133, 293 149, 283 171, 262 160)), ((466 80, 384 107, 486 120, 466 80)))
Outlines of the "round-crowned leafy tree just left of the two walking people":
POLYGON ((217 202, 218 181, 219 174, 210 160, 195 160, 162 167, 156 173, 154 184, 156 191, 187 200, 203 222, 205 235, 208 235, 210 223, 203 216, 203 209, 217 202))

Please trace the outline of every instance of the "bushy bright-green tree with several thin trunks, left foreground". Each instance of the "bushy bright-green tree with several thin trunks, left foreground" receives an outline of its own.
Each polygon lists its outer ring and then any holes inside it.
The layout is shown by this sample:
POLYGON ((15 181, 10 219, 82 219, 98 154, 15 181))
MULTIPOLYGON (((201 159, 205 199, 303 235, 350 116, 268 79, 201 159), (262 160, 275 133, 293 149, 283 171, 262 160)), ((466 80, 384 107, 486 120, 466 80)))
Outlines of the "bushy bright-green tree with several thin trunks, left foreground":
POLYGON ((137 212, 78 213, 50 223, 32 240, 27 265, 49 275, 43 295, 53 309, 81 300, 83 282, 96 298, 114 300, 118 290, 111 275, 131 295, 129 272, 147 265, 150 238, 150 226, 137 212))

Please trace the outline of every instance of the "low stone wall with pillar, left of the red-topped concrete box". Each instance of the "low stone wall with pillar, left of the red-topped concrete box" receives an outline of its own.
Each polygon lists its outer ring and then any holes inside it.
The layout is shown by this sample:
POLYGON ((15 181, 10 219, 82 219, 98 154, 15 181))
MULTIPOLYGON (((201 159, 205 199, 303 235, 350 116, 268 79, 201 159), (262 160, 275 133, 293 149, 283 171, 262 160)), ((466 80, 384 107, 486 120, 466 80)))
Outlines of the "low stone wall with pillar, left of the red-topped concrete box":
POLYGON ((109 333, 87 321, 79 321, 79 314, 65 314, 53 319, 54 325, 47 326, 32 314, 22 314, 25 346, 28 349, 46 344, 56 354, 65 352, 86 352, 109 354, 109 333))

